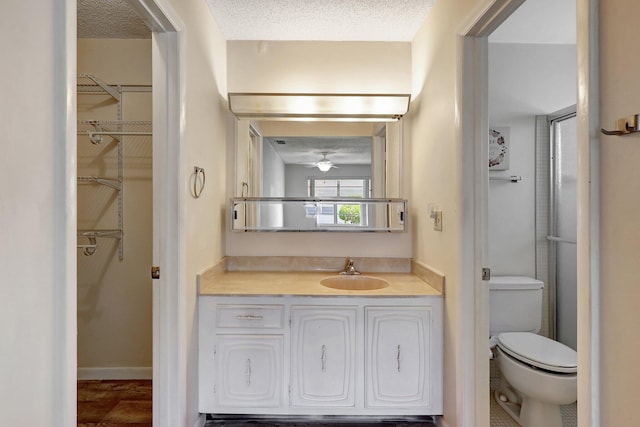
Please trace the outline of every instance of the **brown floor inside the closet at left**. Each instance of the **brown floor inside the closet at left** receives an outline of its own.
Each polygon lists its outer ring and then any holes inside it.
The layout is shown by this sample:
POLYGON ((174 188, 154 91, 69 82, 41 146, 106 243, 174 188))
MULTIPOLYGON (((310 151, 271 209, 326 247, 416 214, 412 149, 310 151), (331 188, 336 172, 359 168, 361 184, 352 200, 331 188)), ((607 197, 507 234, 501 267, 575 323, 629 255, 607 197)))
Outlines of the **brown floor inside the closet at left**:
POLYGON ((151 427, 151 380, 78 381, 78 427, 151 427))

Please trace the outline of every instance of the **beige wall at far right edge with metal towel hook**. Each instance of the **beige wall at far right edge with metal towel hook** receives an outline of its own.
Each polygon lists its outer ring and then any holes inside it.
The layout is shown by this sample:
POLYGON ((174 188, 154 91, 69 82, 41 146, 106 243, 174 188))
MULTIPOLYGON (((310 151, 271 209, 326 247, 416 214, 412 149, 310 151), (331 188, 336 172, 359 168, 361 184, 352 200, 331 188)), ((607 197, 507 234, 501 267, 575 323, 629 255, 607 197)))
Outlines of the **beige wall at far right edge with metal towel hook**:
MULTIPOLYGON (((600 2, 600 125, 640 113, 640 59, 625 47, 640 39, 633 0, 600 2)), ((600 135, 601 425, 638 423, 640 382, 640 134, 600 135)))

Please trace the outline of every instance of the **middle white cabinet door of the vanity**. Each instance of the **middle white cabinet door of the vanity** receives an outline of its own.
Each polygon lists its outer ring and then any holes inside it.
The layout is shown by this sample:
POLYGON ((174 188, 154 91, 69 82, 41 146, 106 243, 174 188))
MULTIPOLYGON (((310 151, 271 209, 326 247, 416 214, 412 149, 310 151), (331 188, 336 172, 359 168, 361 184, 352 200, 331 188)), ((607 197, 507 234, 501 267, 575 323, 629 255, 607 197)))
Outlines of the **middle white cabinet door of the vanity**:
POLYGON ((291 308, 291 405, 355 404, 355 307, 291 308))

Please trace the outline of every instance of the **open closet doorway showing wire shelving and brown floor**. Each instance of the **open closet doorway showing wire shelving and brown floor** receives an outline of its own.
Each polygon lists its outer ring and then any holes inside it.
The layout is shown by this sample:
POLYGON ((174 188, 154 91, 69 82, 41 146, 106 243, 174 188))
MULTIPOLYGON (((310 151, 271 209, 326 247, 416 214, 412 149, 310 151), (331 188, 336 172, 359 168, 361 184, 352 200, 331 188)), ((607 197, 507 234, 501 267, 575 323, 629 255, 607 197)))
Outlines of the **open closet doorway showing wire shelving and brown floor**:
POLYGON ((77 9, 77 422, 151 426, 151 32, 98 7, 77 9))

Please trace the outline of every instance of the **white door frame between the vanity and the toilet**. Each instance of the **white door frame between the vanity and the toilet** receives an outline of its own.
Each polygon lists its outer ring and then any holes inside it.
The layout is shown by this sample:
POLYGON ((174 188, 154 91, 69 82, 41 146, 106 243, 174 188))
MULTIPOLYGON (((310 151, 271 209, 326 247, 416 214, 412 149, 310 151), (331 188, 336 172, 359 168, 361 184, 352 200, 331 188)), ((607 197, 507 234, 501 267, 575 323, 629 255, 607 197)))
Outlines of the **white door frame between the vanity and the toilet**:
POLYGON ((488 254, 488 42, 487 37, 524 0, 481 3, 458 31, 458 81, 462 147, 460 379, 457 396, 460 426, 489 427, 489 290, 481 280, 488 254))

